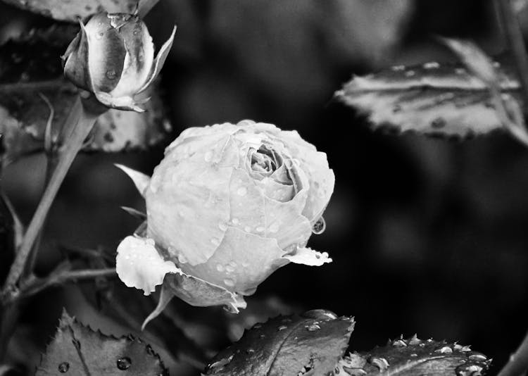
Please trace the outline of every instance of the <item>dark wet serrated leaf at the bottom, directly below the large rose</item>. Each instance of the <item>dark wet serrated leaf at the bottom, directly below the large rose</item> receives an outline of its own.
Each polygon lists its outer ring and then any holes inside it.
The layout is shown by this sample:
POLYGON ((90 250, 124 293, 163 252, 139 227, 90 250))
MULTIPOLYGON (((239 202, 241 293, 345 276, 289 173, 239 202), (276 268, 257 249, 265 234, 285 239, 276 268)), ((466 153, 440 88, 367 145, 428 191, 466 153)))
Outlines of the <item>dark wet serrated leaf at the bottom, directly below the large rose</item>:
POLYGON ((329 311, 279 316, 254 325, 235 344, 220 351, 206 375, 327 375, 343 355, 353 318, 329 311))

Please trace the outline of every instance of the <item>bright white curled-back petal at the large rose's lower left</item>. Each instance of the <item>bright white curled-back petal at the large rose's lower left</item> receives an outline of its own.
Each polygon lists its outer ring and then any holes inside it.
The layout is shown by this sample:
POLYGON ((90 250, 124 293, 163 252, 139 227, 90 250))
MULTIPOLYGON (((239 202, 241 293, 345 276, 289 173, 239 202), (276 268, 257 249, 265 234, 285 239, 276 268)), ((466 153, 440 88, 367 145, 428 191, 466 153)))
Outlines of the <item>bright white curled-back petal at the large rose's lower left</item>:
POLYGON ((156 251, 152 239, 125 237, 118 246, 115 270, 127 287, 150 295, 163 282, 165 274, 181 272, 172 261, 165 261, 156 251))

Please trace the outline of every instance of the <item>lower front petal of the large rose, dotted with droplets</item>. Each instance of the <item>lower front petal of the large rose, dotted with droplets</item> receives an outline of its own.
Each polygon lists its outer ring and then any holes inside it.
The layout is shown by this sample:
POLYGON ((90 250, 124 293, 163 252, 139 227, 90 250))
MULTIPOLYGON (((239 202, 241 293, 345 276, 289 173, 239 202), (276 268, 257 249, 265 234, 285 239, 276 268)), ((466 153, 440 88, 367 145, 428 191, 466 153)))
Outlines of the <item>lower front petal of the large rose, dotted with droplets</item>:
POLYGON ((182 269, 213 284, 225 287, 232 292, 245 292, 256 289, 272 272, 287 261, 282 260, 284 251, 277 240, 248 234, 229 227, 222 244, 207 263, 182 269))

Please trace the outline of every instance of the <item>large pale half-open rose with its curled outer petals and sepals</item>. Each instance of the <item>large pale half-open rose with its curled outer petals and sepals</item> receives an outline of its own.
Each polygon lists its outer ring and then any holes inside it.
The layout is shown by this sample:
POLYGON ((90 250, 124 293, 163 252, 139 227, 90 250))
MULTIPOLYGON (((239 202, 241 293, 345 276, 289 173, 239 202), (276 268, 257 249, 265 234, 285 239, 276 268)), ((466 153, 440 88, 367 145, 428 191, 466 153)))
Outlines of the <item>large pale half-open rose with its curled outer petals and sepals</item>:
POLYGON ((332 261, 306 244, 323 230, 334 173, 296 131, 250 120, 189 128, 151 178, 121 168, 145 197, 147 220, 118 246, 116 268, 146 295, 163 282, 149 319, 172 296, 237 311, 287 263, 332 261))

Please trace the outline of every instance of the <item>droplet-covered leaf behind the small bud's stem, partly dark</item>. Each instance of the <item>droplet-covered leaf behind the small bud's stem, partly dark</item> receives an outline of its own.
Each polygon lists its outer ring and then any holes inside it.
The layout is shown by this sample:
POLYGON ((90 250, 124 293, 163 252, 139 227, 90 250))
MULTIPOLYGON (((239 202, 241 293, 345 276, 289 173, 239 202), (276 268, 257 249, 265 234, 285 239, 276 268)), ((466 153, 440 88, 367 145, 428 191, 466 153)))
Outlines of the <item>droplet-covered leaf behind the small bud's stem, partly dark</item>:
MULTIPOLYGON (((42 151, 51 110, 52 134, 61 129, 77 89, 63 78, 59 56, 75 32, 73 26, 51 27, 0 46, 0 158, 4 165, 42 151)), ((170 123, 157 93, 156 88, 146 93, 152 98, 145 104, 145 113, 111 109, 101 115, 84 150, 146 149, 165 139, 170 123)))

